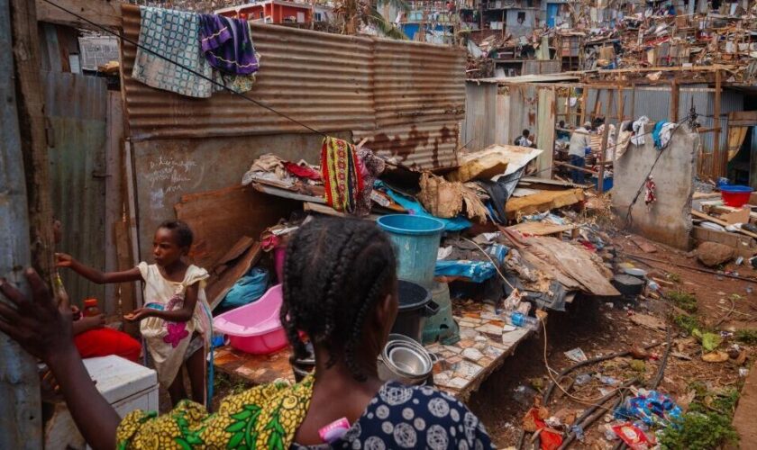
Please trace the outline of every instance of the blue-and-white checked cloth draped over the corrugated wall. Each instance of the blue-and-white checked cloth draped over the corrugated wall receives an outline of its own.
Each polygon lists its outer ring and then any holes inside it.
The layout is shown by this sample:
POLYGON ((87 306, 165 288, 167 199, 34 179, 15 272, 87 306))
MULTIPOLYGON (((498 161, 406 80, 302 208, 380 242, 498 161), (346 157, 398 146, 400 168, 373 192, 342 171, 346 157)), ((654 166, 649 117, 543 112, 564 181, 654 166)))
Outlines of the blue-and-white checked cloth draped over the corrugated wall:
POLYGON ((213 67, 200 51, 198 30, 197 14, 140 6, 140 46, 132 78, 177 94, 209 97, 213 67))

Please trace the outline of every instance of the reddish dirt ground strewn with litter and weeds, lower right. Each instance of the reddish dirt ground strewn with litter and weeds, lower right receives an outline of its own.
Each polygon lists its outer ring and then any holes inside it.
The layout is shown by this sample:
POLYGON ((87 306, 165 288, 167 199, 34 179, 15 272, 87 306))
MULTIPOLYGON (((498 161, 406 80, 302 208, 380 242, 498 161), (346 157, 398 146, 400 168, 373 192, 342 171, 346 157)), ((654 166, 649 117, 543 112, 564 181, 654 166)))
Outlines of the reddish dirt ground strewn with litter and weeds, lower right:
MULTIPOLYGON (((656 251, 645 253, 620 233, 613 240, 618 253, 616 263, 631 263, 648 271, 648 277, 656 280, 661 289, 658 293, 647 291, 635 304, 577 298, 569 311, 550 315, 547 360, 555 371, 553 374, 575 364, 564 354, 573 348, 579 347, 588 358, 629 350, 631 353, 582 366, 568 374, 561 381, 567 393, 554 389, 541 414, 545 419, 560 418, 560 425, 552 423, 553 428, 562 429, 566 422, 570 425, 570 420, 580 418, 597 399, 623 383, 634 381, 631 383, 634 391, 624 391, 625 396, 634 396, 636 388, 651 388, 659 376, 656 391, 670 396, 682 410, 682 426, 669 433, 663 444, 686 448, 725 444, 735 437, 730 418, 752 363, 752 345, 757 344, 757 332, 749 331, 757 329, 757 294, 748 289, 757 287, 757 277, 755 283, 750 283, 692 271, 680 266, 698 266, 696 258, 678 250, 653 244, 653 248, 643 247, 647 251, 656 248, 656 251), (643 264, 627 257, 629 254, 653 257, 663 263, 643 264), (654 344, 657 345, 651 347, 654 344), (643 351, 643 347, 651 348, 643 351), (661 373, 663 360, 665 367, 661 373)), ((723 269, 735 270, 746 277, 755 275, 751 267, 723 269)), ((471 399, 471 408, 485 421, 500 448, 517 446, 524 428, 524 414, 533 406, 534 398, 543 398, 543 392, 551 383, 544 364, 543 345, 543 334, 524 343, 471 399)), ((752 396, 757 398, 755 376, 752 374, 755 381, 751 389, 755 391, 752 396)), ((749 401, 747 399, 750 399, 748 394, 744 401, 749 401)), ((583 439, 570 447, 619 446, 620 440, 608 439, 614 437, 611 426, 623 423, 609 411, 615 402, 607 401, 597 409, 597 420, 582 428, 583 439)), ((751 403, 743 403, 748 404, 751 403)), ((746 425, 748 419, 743 422, 744 429, 752 431, 752 436, 744 435, 744 439, 755 438, 754 407, 757 403, 748 412, 740 411, 744 417, 752 418, 749 425, 746 425)), ((661 428, 652 426, 647 435, 655 438, 654 431, 661 428)), ((530 440, 531 434, 527 433, 524 448, 532 447, 530 440)), ((750 448, 744 446, 748 442, 744 440, 741 447, 750 448)))

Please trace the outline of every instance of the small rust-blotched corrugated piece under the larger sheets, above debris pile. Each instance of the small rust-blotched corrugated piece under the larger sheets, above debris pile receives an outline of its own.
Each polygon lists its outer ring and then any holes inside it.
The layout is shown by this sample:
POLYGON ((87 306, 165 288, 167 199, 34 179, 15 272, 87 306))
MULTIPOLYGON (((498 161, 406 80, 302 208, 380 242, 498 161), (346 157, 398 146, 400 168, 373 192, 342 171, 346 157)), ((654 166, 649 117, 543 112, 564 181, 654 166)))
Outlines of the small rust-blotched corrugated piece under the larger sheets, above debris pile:
POLYGON ((388 127, 376 131, 353 131, 355 141, 368 138, 365 146, 382 157, 417 169, 457 166, 458 122, 434 121, 388 127))

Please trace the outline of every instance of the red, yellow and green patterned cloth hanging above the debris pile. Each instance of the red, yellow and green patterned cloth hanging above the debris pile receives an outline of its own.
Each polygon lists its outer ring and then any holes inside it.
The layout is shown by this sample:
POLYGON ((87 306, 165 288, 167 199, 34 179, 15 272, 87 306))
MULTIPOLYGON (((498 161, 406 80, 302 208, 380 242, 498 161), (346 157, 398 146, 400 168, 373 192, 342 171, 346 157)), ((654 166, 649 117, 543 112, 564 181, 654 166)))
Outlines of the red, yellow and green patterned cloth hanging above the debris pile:
POLYGON ((363 188, 355 146, 342 139, 324 138, 321 172, 326 203, 336 211, 355 212, 363 188))

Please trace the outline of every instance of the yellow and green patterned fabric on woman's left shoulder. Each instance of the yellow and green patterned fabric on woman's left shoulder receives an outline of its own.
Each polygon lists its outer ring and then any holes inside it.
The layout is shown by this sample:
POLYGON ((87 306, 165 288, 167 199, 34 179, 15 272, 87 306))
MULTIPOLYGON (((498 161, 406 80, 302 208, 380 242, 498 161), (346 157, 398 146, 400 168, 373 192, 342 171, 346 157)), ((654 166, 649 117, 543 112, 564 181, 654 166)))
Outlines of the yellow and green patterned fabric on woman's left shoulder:
POLYGON ((119 450, 291 446, 313 396, 313 377, 301 383, 269 383, 226 397, 218 412, 182 401, 163 416, 132 411, 116 431, 119 450))

